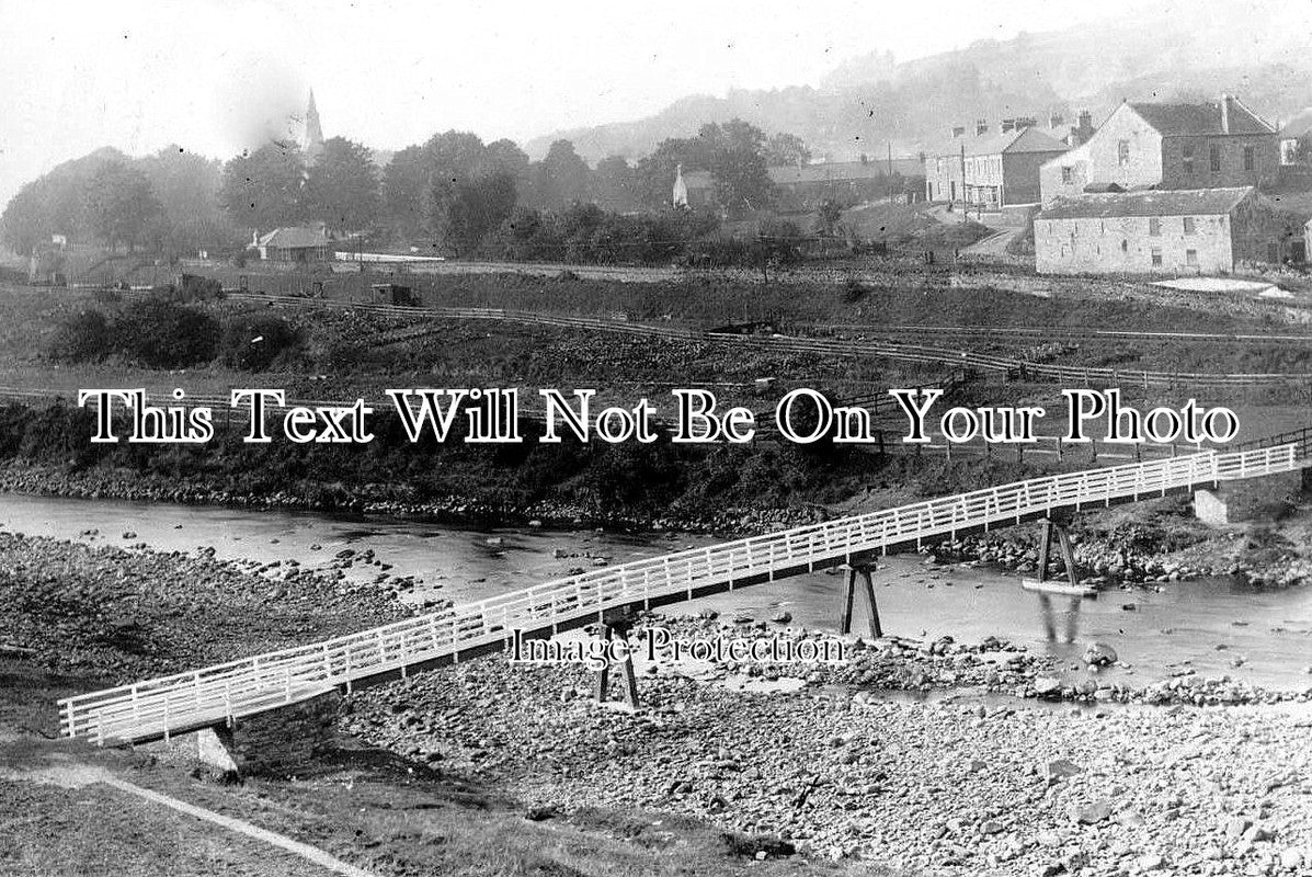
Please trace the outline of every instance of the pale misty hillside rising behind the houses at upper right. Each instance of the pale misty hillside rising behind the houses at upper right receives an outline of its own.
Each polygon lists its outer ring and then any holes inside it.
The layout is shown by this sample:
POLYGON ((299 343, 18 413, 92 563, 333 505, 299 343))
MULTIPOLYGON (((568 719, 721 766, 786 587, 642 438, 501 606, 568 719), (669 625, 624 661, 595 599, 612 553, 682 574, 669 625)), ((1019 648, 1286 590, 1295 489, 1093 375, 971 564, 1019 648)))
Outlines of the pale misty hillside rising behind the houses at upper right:
POLYGON ((850 160, 882 154, 890 142, 895 152, 914 154, 942 140, 954 122, 1034 116, 1047 123, 1059 113, 1069 123, 1081 109, 1097 122, 1127 98, 1215 100, 1221 92, 1277 121, 1303 109, 1312 93, 1312 59, 1300 45, 1312 12, 1287 13, 1254 24, 1244 8, 1199 4, 900 63, 874 51, 837 66, 816 87, 689 96, 647 118, 556 131, 526 148, 542 155, 565 138, 590 161, 635 159, 664 138, 737 117, 798 134, 817 156, 850 160))

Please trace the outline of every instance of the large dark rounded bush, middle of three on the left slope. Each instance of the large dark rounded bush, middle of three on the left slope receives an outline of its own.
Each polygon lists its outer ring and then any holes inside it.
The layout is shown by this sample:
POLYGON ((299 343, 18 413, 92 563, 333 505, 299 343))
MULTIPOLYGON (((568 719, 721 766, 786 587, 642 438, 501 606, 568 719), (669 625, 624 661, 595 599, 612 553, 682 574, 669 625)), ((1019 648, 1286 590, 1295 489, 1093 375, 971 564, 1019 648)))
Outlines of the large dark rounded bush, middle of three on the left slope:
POLYGON ((121 349, 152 369, 209 362, 219 348, 219 323, 194 307, 147 298, 114 322, 121 349))

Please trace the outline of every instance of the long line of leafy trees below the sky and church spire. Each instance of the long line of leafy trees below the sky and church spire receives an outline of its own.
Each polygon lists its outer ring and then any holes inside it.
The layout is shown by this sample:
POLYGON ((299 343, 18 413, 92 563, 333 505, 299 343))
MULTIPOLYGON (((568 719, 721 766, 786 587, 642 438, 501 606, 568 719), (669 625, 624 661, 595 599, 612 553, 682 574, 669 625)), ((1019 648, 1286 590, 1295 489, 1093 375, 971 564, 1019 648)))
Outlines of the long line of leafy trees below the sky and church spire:
POLYGON ((718 225, 708 213, 635 215, 670 206, 677 167, 708 172, 720 207, 743 214, 773 205, 768 167, 808 159, 799 138, 766 137, 741 119, 665 139, 636 163, 613 155, 596 167, 569 140, 533 161, 509 139, 484 143, 455 130, 408 146, 382 167, 369 147, 341 137, 328 139, 310 165, 299 148, 279 142, 222 164, 180 147, 143 159, 100 150, 24 186, 0 215, 0 239, 20 253, 62 234, 110 249, 180 255, 239 249, 251 230, 323 223, 370 244, 425 242, 455 253, 495 244, 506 255, 586 251, 646 260, 718 225))

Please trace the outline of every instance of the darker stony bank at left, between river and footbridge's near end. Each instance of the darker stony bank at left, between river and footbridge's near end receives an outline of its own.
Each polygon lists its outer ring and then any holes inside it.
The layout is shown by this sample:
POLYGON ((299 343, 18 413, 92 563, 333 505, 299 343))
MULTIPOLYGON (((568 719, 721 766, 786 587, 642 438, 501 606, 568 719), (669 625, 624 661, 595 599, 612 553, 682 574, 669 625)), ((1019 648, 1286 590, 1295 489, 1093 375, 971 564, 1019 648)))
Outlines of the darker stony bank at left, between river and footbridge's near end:
POLYGON ((0 532, 0 652, 126 681, 316 642, 415 612, 286 565, 0 532))

